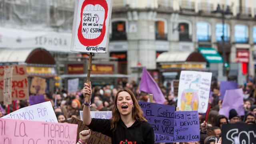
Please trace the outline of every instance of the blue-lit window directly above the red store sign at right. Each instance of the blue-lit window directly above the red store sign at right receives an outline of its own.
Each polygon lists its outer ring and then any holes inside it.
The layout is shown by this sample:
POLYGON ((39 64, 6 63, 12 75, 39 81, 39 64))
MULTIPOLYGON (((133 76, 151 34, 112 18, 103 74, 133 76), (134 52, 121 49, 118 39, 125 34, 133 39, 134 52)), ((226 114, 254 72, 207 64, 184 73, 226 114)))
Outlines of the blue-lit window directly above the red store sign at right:
POLYGON ((245 25, 235 25, 235 42, 248 43, 248 27, 245 25))

